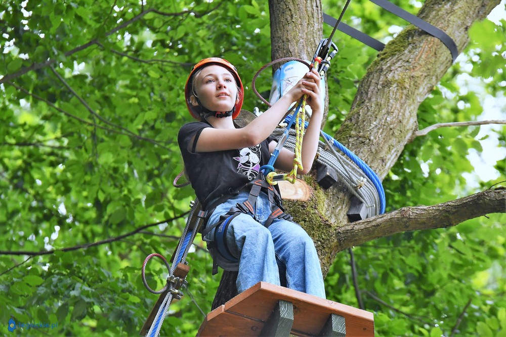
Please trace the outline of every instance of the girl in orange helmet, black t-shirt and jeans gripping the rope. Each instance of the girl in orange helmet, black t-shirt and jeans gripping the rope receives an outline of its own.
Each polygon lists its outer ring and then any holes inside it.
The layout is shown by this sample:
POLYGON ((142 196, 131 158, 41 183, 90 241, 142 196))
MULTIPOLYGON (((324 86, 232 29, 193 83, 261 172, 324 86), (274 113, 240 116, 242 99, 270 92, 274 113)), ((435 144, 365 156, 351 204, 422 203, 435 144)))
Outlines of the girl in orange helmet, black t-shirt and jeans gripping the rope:
MULTIPOLYGON (((216 264, 238 271, 239 293, 265 281, 325 298, 312 239, 289 221, 277 189, 259 172, 276 146, 270 134, 304 94, 312 117, 299 173, 311 169, 323 115, 320 76, 308 72, 266 112, 236 128, 233 119, 241 110, 243 90, 235 67, 220 58, 198 62, 185 86, 188 110, 199 122, 183 125, 178 142, 189 181, 207 211, 202 237, 215 261, 214 273, 216 264)), ((289 172, 293 158, 293 152, 282 149, 275 168, 289 172)))

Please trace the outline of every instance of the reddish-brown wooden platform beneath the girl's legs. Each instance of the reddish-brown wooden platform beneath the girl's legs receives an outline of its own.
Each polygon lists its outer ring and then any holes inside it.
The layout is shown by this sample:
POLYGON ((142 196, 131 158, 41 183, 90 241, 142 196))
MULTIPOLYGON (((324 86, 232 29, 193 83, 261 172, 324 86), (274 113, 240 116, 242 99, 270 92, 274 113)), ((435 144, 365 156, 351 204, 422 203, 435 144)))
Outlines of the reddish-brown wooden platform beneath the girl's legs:
POLYGON ((258 336, 279 300, 293 305, 293 335, 319 335, 330 315, 336 314, 345 318, 346 336, 374 336, 371 312, 265 282, 207 314, 197 336, 258 336))

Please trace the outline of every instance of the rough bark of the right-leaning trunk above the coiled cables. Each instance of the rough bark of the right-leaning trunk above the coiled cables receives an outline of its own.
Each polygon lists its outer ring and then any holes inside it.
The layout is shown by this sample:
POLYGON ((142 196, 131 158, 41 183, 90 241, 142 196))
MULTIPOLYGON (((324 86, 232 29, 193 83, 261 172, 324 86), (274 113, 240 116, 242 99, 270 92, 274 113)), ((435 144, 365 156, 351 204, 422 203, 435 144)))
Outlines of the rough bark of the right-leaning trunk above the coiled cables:
MULTIPOLYGON (((428 0, 418 17, 446 32, 459 52, 468 29, 500 0, 428 0)), ((385 177, 418 130, 416 112, 452 64, 447 47, 413 25, 378 54, 361 80, 350 114, 335 138, 385 177)))

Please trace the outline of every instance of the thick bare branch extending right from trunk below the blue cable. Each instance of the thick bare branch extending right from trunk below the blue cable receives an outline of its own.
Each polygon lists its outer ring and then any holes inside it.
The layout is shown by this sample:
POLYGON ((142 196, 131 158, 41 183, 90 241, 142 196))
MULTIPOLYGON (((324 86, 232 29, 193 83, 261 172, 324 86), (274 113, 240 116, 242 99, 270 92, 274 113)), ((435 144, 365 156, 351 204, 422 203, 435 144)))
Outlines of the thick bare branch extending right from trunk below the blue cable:
POLYGON ((338 251, 405 231, 456 226, 489 213, 506 213, 506 188, 487 189, 434 206, 404 207, 346 224, 336 229, 338 251))

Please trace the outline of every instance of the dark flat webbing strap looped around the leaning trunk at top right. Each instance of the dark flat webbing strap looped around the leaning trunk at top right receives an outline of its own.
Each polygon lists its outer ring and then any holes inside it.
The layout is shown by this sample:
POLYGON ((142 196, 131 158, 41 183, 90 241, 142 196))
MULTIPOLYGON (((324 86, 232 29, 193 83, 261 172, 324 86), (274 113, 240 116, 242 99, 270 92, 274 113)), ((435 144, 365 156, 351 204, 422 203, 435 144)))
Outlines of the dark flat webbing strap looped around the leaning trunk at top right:
MULTIPOLYGON (((387 0, 369 0, 369 1, 384 8, 385 10, 389 11, 390 13, 397 15, 398 17, 406 20, 407 22, 409 22, 409 23, 415 25, 416 27, 424 30, 425 32, 431 34, 432 36, 440 39, 446 45, 446 47, 449 49, 449 51, 451 53, 452 60, 453 60, 453 62, 455 62, 455 59, 458 56, 457 44, 444 31, 431 25, 427 21, 420 19, 417 16, 403 10, 402 8, 392 4, 391 2, 389 2, 387 0)), ((330 15, 324 13, 323 14, 323 22, 325 22, 328 25, 333 26, 333 25, 335 25, 337 20, 335 18, 331 17, 330 15)), ((365 33, 360 32, 359 30, 356 30, 355 28, 352 28, 352 27, 346 25, 345 23, 340 23, 338 29, 340 31, 342 31, 343 33, 348 34, 351 37, 359 40, 360 42, 367 44, 368 46, 374 48, 377 51, 382 51, 385 47, 384 43, 370 37, 369 35, 367 35, 365 33)))

